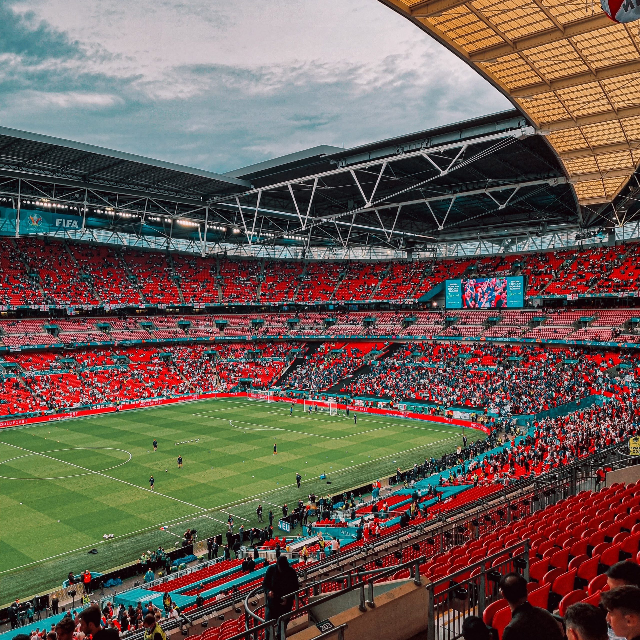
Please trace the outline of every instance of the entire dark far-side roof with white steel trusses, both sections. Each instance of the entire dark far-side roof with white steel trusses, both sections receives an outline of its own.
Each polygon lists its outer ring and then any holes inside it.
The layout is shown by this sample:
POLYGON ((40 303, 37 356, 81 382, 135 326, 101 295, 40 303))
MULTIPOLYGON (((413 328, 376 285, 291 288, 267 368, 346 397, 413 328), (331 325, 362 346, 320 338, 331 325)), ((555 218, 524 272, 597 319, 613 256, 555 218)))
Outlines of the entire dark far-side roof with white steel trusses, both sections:
POLYGON ((556 154, 515 109, 350 149, 314 147, 225 175, 0 129, 0 178, 0 196, 20 194, 23 207, 86 207, 93 228, 198 241, 207 253, 420 250, 478 237, 500 246, 513 234, 580 225, 556 154))

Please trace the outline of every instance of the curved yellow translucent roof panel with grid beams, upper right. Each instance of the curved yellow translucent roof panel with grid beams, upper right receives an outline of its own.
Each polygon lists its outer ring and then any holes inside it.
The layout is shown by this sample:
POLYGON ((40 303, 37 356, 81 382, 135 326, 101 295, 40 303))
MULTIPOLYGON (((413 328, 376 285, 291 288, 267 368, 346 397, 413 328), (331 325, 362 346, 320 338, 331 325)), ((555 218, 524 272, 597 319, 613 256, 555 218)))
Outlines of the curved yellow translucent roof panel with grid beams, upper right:
POLYGON ((474 67, 540 131, 582 205, 640 161, 640 32, 582 0, 380 0, 474 67))

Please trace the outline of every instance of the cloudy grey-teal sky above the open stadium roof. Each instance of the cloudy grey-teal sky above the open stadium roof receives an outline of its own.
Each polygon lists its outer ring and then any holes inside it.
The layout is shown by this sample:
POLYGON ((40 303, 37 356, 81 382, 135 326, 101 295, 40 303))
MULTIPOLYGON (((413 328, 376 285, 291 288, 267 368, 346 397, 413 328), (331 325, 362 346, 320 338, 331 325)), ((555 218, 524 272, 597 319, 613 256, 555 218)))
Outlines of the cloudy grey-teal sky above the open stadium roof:
POLYGON ((376 0, 0 0, 0 125, 216 172, 508 107, 376 0))

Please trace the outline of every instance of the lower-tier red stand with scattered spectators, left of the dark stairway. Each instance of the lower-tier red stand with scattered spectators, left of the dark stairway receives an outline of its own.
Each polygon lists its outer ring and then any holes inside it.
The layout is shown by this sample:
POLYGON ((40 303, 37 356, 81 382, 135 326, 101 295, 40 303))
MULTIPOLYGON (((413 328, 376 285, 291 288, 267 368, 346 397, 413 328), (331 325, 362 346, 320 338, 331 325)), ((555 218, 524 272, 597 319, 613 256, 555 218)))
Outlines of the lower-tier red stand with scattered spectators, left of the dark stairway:
MULTIPOLYGON (((61 411, 190 393, 225 392, 241 379, 268 388, 289 365, 296 342, 74 350, 6 355, 16 375, 0 382, 0 415, 61 411)), ((0 372, 2 370, 0 369, 0 372)))

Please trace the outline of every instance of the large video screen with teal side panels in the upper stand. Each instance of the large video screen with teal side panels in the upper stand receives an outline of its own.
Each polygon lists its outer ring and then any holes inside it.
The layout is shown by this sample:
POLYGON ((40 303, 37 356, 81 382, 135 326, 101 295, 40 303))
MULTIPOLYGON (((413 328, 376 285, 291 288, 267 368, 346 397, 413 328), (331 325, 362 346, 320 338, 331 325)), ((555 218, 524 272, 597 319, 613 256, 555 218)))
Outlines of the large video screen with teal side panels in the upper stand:
POLYGON ((506 309, 524 307, 524 278, 469 278, 445 282, 447 309, 506 309))

